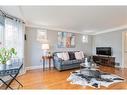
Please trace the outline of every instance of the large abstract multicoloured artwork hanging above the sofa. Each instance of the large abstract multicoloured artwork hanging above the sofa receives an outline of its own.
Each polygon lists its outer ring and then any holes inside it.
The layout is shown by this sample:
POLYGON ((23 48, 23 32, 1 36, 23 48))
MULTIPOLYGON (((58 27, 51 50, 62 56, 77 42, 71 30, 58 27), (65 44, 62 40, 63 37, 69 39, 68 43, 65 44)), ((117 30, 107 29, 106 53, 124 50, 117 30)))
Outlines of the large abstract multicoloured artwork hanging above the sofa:
POLYGON ((58 32, 58 48, 74 48, 75 33, 58 32))

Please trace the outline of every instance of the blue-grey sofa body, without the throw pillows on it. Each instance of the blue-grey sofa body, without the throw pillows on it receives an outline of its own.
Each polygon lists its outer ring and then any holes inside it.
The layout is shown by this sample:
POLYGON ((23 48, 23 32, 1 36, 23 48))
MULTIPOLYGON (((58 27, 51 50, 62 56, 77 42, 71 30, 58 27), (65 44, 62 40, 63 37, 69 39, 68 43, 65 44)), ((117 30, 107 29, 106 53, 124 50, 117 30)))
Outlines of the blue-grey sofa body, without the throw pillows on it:
MULTIPOLYGON (((76 52, 76 51, 69 51, 69 52, 76 52)), ((67 69, 72 69, 72 68, 78 68, 80 67, 80 63, 83 63, 85 61, 85 58, 81 60, 62 60, 61 58, 58 58, 57 53, 60 52, 54 52, 53 53, 53 62, 54 62, 54 67, 59 70, 67 70, 67 69)))

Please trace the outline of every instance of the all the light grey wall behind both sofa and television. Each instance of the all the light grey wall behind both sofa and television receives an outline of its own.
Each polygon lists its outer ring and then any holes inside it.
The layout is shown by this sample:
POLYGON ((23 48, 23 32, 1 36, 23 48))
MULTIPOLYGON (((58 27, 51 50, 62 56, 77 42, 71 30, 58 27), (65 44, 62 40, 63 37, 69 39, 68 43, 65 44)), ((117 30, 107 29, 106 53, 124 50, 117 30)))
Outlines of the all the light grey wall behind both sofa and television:
MULTIPOLYGON (((70 51, 82 50, 86 55, 94 55, 96 47, 112 47, 113 56, 116 57, 116 62, 122 65, 122 32, 114 31, 103 34, 97 34, 88 37, 88 43, 82 43, 82 34, 76 34, 76 47, 75 48, 57 48, 57 32, 48 30, 48 40, 51 45, 51 52, 55 51, 70 51)), ((36 40, 37 28, 26 27, 26 67, 42 65, 40 59, 42 56, 41 44, 36 40)))

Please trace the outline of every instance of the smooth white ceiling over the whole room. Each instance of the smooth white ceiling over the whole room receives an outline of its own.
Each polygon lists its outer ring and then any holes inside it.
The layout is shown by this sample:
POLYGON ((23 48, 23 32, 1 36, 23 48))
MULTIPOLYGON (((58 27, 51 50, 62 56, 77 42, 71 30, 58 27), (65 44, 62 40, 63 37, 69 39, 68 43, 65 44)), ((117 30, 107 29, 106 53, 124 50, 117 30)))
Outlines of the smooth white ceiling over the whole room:
POLYGON ((97 34, 127 28, 126 6, 1 6, 27 26, 97 34))

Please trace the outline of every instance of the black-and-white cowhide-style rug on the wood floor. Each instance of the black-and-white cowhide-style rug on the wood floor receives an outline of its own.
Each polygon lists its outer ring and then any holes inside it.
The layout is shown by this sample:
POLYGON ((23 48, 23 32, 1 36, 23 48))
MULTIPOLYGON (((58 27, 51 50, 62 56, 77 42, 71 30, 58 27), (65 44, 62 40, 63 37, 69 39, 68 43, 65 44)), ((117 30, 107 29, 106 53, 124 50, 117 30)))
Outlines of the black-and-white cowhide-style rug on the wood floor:
POLYGON ((70 81, 71 84, 100 88, 100 86, 108 87, 113 83, 124 82, 124 79, 98 69, 81 69, 71 72, 67 81, 70 81))

